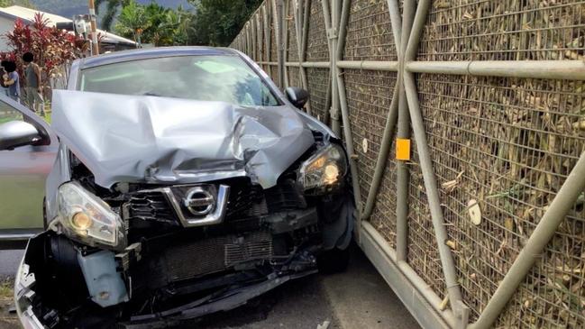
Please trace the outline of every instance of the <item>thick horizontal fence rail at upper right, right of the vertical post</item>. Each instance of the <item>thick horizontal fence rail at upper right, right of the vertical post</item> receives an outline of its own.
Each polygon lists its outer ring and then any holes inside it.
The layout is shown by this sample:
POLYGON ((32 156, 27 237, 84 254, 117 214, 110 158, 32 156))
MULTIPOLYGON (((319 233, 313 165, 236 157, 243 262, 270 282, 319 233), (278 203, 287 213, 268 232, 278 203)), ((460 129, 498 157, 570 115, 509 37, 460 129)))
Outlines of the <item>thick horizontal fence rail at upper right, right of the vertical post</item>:
POLYGON ((407 70, 486 77, 585 80, 585 62, 582 60, 411 61, 407 63, 407 70))

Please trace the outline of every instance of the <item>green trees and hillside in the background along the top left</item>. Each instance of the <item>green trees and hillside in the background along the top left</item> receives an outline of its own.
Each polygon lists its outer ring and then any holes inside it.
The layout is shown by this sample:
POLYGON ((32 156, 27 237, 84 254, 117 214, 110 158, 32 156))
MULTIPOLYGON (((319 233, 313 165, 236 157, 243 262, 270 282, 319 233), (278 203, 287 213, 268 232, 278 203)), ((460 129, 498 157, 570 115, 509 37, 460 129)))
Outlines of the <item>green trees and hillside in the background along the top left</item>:
MULTIPOLYGON (((156 46, 228 46, 262 0, 102 0, 98 15, 107 31, 156 46), (130 6, 130 8, 125 8, 130 6), (125 9, 125 10, 124 10, 125 9), (140 35, 136 30, 140 29, 140 35)), ((72 17, 87 0, 0 0, 72 17)))

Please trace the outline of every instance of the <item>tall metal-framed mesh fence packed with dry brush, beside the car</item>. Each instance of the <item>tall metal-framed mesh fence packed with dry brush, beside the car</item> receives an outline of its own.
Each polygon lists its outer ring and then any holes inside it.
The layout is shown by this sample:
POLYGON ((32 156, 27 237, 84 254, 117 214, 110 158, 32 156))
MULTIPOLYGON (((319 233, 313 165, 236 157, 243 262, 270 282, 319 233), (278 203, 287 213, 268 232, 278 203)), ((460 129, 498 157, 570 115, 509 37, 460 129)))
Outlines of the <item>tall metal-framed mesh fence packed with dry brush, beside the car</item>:
POLYGON ((267 0, 232 46, 343 136, 419 323, 585 327, 585 1, 267 0))

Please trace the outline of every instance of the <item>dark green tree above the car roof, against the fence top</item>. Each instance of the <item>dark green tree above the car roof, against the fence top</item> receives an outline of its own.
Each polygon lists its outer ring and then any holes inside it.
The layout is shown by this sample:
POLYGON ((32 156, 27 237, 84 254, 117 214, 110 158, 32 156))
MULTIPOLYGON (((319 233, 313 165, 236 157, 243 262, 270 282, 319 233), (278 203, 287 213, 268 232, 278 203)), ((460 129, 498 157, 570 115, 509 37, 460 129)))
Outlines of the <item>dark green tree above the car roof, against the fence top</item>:
POLYGON ((189 41, 194 44, 227 46, 242 30, 261 0, 189 0, 196 7, 189 41))

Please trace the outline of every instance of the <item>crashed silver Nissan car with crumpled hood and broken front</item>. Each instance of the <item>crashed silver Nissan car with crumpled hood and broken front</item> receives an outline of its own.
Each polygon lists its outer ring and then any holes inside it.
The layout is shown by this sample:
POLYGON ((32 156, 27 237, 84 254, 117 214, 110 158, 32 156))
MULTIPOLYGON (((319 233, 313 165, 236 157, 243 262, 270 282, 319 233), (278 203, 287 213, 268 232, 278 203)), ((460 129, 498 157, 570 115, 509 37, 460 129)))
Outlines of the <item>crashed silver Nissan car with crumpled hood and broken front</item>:
POLYGON ((343 270, 347 155, 307 99, 238 51, 168 48, 76 61, 50 126, 7 102, 24 119, 0 124, 0 157, 57 148, 23 326, 167 327, 343 270))

